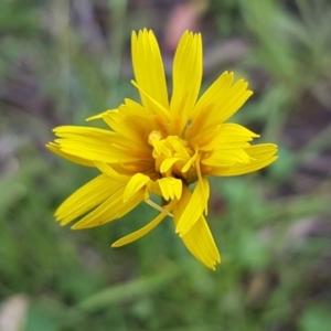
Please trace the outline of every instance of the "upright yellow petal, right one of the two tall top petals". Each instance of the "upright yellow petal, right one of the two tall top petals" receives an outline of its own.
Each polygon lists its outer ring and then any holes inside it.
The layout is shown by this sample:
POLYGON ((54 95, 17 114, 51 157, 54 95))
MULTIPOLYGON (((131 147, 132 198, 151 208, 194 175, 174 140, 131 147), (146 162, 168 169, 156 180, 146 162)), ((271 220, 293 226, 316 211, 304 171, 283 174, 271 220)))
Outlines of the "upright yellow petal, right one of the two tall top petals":
POLYGON ((170 111, 172 134, 181 136, 196 103, 202 78, 201 34, 185 32, 173 60, 173 93, 170 111))

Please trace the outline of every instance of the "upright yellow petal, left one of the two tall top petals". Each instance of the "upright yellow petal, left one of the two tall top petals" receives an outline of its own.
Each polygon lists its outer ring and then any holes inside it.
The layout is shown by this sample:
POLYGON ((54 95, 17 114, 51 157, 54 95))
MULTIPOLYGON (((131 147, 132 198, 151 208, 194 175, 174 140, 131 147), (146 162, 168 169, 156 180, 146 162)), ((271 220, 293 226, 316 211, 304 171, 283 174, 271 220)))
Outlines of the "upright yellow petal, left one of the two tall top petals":
MULTIPOLYGON (((169 109, 168 90, 160 49, 152 31, 134 32, 131 36, 132 65, 138 85, 163 108, 169 109)), ((153 104, 140 93, 141 102, 151 113, 153 104)))

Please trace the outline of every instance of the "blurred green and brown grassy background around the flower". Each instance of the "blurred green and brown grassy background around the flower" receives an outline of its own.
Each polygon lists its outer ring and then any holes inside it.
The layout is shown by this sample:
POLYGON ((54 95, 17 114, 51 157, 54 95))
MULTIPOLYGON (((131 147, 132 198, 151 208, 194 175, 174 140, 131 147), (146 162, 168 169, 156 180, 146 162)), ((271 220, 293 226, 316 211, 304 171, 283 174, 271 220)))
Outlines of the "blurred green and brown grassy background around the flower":
POLYGON ((331 330, 330 141, 330 1, 1 0, 0 330, 331 330), (201 31, 203 89, 225 70, 246 78, 255 94, 234 121, 279 146, 273 167, 212 180, 215 273, 171 220, 110 248, 147 205, 86 231, 54 221, 96 171, 44 145, 138 99, 130 34, 145 26, 169 75, 178 35, 201 31))

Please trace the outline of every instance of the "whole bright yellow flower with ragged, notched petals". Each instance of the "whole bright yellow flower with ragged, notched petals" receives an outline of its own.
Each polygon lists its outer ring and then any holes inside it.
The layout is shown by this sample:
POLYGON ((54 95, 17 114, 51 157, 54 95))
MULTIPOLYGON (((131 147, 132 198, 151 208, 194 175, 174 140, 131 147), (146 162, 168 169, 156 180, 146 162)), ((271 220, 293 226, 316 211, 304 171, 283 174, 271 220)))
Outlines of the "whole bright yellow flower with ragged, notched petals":
POLYGON ((142 237, 170 216, 188 249, 215 269, 221 257, 205 220, 207 178, 259 170, 277 159, 277 146, 252 146, 258 135, 226 122, 253 94, 243 79, 234 83, 233 73, 223 73, 199 98, 201 34, 185 32, 178 45, 170 100, 152 31, 134 32, 131 43, 132 84, 141 104, 125 99, 118 109, 88 119, 103 119, 109 130, 76 126, 54 129, 57 138, 47 145, 51 151, 100 171, 73 193, 55 216, 62 225, 82 217, 72 228, 87 228, 119 218, 147 202, 160 211, 158 216, 113 247, 142 237), (151 193, 163 203, 152 201, 151 193))

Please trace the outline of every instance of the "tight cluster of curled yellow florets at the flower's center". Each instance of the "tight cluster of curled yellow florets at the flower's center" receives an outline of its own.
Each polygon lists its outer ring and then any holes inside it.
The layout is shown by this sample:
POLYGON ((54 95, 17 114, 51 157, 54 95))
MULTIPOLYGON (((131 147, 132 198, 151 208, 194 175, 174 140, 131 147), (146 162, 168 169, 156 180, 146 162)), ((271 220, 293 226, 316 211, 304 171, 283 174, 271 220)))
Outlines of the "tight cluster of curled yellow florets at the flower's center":
POLYGON ((197 180, 199 149, 192 149, 186 140, 178 136, 163 137, 161 131, 152 131, 148 142, 153 147, 152 157, 156 159, 156 171, 162 177, 173 177, 185 181, 186 184, 197 180))

